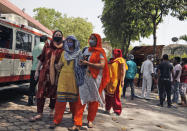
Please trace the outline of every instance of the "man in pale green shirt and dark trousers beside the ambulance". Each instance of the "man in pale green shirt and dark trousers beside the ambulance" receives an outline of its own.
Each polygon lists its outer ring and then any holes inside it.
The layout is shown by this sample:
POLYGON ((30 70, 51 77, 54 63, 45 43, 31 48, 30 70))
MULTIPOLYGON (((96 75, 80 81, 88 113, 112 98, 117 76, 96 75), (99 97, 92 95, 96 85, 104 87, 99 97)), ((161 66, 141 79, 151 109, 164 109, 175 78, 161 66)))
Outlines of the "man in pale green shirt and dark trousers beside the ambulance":
POLYGON ((30 74, 30 87, 29 87, 29 98, 28 98, 28 106, 33 105, 33 96, 35 96, 35 87, 38 83, 38 80, 34 79, 36 68, 38 65, 38 56, 42 53, 45 42, 47 41, 47 36, 43 35, 40 37, 40 43, 37 44, 32 52, 33 61, 32 61, 32 69, 30 74))

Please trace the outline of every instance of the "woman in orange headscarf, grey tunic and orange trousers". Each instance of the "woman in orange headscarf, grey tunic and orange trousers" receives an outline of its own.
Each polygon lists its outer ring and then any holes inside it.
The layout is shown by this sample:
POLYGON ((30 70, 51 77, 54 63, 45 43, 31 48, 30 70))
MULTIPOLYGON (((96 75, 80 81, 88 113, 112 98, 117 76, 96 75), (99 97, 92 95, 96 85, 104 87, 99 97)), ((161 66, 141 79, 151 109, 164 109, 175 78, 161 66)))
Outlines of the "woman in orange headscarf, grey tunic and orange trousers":
POLYGON ((82 126, 82 116, 88 104, 88 127, 93 127, 98 106, 103 105, 102 91, 109 82, 106 54, 102 48, 99 34, 92 34, 89 39, 90 47, 84 50, 81 65, 86 66, 84 84, 79 86, 79 99, 76 103, 74 126, 70 130, 79 130, 82 126))

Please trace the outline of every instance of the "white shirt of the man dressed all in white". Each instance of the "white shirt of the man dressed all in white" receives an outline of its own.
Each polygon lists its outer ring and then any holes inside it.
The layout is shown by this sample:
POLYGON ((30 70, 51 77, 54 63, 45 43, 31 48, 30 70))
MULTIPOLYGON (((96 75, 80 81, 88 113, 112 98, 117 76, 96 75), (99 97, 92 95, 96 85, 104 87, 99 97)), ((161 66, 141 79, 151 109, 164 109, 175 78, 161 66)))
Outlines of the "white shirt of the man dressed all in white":
POLYGON ((147 59, 144 61, 141 66, 141 73, 143 73, 143 77, 151 77, 151 74, 154 73, 153 69, 153 63, 151 60, 147 59))

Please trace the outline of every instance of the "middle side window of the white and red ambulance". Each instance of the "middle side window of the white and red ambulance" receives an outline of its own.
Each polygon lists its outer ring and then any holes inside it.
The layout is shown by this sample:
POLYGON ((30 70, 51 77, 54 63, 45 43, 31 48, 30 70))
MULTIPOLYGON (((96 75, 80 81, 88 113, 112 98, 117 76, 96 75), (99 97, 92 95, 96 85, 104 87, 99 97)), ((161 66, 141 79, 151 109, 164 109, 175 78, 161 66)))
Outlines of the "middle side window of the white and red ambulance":
POLYGON ((31 52, 32 36, 30 34, 17 31, 16 32, 16 50, 24 50, 31 52))

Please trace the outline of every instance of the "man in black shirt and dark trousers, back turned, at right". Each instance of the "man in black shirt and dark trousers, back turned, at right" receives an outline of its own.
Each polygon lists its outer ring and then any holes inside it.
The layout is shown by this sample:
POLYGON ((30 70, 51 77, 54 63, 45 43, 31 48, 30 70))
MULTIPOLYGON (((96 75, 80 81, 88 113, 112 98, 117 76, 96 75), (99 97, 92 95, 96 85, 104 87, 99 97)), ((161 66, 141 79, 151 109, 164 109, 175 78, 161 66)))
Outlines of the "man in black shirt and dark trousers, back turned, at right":
POLYGON ((171 73, 173 71, 173 66, 168 61, 168 55, 163 55, 163 61, 158 66, 158 76, 159 76, 159 106, 163 107, 164 95, 167 94, 168 108, 171 107, 171 73))

